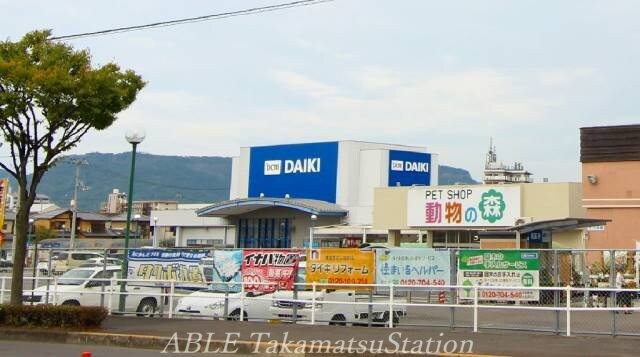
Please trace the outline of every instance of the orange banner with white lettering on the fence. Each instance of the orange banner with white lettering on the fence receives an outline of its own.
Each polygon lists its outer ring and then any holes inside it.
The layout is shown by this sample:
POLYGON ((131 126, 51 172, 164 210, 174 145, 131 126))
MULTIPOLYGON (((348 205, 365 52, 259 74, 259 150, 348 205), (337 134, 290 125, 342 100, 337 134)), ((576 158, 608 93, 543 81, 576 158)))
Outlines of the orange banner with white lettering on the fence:
MULTIPOLYGON (((307 284, 373 284, 375 253, 358 248, 311 249, 307 253, 307 284)), ((327 288, 322 286, 321 288, 327 288)), ((354 289, 354 286, 335 286, 354 289)), ((367 287, 366 289, 371 289, 367 287)))

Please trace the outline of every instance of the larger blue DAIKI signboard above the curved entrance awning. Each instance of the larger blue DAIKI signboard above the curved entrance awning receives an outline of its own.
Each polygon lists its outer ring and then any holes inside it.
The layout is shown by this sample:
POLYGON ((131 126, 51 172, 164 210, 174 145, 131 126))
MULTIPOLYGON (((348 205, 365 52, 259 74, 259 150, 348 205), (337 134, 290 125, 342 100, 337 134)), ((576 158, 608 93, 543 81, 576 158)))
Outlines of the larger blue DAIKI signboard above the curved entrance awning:
POLYGON ((252 147, 249 197, 336 202, 338 142, 252 147))

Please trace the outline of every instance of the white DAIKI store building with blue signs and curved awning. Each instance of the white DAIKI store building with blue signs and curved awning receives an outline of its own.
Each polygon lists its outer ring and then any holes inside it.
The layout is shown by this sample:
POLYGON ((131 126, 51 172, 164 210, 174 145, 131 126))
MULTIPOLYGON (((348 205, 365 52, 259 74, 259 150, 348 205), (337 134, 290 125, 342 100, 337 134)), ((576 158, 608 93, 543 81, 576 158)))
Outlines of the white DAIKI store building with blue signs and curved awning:
MULTIPOLYGON (((426 147, 360 141, 243 147, 230 200, 197 211, 235 227, 236 247, 357 247, 386 242, 375 229, 374 189, 438 184, 426 147)), ((384 203, 382 203, 384 204, 384 203)), ((415 237, 406 227, 399 236, 415 237)))

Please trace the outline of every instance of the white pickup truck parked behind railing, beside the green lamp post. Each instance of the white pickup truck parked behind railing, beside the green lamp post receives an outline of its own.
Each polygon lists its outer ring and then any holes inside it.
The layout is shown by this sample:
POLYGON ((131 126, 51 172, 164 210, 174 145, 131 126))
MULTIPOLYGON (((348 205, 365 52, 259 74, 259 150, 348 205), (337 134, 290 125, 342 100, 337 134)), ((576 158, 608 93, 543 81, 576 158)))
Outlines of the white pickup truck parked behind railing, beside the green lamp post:
MULTIPOLYGON (((120 275, 121 267, 76 268, 67 271, 58 278, 57 286, 51 284, 48 290, 48 303, 56 305, 103 306, 118 310, 120 285, 112 284, 111 278, 120 275), (104 299, 101 299, 104 289, 104 299), (109 296, 111 295, 111 296, 109 296)), ((138 316, 153 316, 161 301, 161 288, 136 286, 129 283, 126 287, 127 298, 125 313, 135 312, 138 316)), ((40 286, 33 293, 25 291, 22 300, 26 303, 47 303, 47 287, 40 286)))

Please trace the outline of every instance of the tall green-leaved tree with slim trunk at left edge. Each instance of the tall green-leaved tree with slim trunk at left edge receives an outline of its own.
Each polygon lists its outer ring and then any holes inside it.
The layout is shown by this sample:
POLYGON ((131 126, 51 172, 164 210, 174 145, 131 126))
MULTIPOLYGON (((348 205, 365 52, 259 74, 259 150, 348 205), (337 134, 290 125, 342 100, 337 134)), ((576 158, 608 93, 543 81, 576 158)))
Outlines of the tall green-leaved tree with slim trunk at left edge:
POLYGON ((145 83, 114 63, 93 67, 88 50, 50 40, 51 31, 0 42, 0 131, 18 182, 11 304, 21 304, 29 210, 42 176, 90 130, 108 128, 145 83), (31 179, 27 180, 27 174, 31 179))

